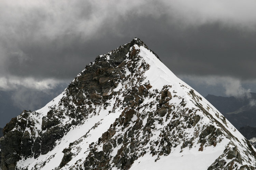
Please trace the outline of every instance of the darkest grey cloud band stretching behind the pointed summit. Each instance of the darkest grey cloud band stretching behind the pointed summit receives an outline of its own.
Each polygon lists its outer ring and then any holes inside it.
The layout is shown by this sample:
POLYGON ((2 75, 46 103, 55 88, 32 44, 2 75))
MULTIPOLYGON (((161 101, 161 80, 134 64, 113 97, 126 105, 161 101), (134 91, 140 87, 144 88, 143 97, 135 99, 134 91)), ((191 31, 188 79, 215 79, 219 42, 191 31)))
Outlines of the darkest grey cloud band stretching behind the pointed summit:
POLYGON ((97 55, 138 36, 177 74, 256 78, 256 32, 223 29, 218 23, 179 30, 175 25, 162 26, 165 21, 165 16, 156 20, 131 16, 125 22, 120 21, 121 37, 105 27, 100 32, 108 36, 89 41, 77 35, 63 35, 54 40, 20 43, 22 53, 11 53, 5 68, 8 73, 20 77, 72 78, 97 55))

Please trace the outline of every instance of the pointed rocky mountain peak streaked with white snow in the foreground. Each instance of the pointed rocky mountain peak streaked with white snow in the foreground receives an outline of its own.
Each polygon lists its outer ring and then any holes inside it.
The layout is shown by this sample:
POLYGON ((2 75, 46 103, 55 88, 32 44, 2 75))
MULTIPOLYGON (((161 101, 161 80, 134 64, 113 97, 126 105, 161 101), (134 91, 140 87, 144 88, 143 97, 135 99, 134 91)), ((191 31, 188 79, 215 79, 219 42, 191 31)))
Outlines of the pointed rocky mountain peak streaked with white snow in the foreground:
POLYGON ((140 39, 3 129, 2 170, 255 170, 256 152, 140 39))

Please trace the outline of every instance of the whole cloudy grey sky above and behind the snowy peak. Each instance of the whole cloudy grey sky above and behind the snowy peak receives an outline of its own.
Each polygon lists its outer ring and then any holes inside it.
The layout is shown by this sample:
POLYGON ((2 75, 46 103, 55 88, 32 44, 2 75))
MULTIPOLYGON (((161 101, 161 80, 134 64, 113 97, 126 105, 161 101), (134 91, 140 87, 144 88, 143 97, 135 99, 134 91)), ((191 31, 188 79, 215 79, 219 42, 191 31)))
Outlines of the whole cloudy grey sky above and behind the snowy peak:
POLYGON ((256 92, 254 0, 1 0, 0 23, 0 91, 22 110, 134 37, 203 96, 256 92))

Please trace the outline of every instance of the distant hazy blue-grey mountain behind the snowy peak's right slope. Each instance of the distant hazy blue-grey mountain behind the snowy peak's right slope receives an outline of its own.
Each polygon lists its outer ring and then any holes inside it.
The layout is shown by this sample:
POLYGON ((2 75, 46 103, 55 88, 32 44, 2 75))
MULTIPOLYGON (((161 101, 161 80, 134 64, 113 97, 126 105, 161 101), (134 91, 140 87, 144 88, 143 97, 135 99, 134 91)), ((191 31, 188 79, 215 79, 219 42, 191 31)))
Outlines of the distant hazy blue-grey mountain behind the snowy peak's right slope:
POLYGON ((256 93, 250 98, 235 98, 208 95, 205 97, 218 109, 237 129, 243 126, 256 126, 256 93))

